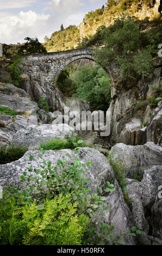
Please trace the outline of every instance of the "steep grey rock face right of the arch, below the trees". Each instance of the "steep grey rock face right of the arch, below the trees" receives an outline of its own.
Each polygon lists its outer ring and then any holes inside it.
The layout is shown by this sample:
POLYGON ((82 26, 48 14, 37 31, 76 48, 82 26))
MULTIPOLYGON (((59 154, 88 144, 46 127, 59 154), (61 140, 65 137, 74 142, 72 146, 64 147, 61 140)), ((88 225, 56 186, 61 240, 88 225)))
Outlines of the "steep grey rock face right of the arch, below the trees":
POLYGON ((143 145, 152 141, 161 145, 162 100, 154 109, 148 105, 148 98, 154 95, 153 92, 162 90, 161 70, 161 60, 154 60, 152 72, 147 77, 142 77, 138 84, 127 92, 117 86, 120 76, 117 72, 112 72, 110 78, 113 100, 109 107, 111 133, 108 138, 105 138, 108 144, 143 145), (151 87, 149 87, 150 84, 151 87))

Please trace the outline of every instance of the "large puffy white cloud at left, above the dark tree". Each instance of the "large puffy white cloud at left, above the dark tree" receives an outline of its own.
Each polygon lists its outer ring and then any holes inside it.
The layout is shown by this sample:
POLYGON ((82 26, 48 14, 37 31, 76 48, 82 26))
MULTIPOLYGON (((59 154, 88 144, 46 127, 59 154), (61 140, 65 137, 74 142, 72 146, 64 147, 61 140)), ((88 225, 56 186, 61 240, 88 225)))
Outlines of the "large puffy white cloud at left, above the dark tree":
POLYGON ((5 44, 22 42, 26 36, 35 37, 47 29, 49 14, 36 14, 35 11, 20 11, 18 15, 0 17, 0 42, 5 44))

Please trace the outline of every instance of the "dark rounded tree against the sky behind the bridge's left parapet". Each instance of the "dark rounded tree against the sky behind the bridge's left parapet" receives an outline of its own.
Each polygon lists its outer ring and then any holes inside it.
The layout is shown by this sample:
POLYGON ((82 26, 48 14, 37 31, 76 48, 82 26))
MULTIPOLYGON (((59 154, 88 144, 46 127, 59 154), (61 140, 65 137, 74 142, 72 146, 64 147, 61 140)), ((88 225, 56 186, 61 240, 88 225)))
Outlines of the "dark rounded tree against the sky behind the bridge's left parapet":
POLYGON ((47 52, 46 48, 38 41, 38 38, 29 38, 26 37, 24 40, 27 40, 21 47, 18 49, 19 54, 32 54, 39 52, 47 52))

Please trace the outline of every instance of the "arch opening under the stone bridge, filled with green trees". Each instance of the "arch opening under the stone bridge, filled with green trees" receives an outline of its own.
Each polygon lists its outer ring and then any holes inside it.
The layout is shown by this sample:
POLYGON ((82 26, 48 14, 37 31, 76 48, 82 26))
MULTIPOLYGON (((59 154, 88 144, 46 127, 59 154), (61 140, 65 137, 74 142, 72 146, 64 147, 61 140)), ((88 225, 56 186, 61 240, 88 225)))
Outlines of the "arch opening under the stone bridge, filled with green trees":
POLYGON ((89 102, 91 111, 107 111, 110 106, 110 79, 92 57, 66 62, 58 75, 56 86, 67 100, 77 97, 89 102))

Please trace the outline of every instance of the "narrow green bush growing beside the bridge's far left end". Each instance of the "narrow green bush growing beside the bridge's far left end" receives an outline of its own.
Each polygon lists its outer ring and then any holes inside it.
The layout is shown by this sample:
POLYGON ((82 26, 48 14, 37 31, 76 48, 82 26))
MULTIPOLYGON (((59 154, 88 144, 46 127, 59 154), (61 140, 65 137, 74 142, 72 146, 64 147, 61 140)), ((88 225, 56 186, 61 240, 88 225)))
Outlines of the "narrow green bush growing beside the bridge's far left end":
POLYGON ((19 65, 21 64, 22 60, 18 56, 13 57, 14 63, 8 66, 11 75, 11 82, 14 86, 19 87, 20 82, 22 80, 22 70, 20 70, 19 65))

